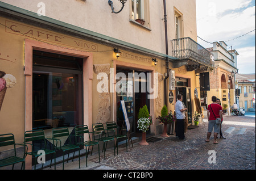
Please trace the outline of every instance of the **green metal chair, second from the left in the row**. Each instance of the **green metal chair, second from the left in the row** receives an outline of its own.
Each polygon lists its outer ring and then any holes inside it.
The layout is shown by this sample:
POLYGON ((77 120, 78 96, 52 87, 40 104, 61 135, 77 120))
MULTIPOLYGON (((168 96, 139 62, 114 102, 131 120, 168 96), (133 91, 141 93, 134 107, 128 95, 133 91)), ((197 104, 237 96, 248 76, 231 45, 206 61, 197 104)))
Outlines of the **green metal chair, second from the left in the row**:
MULTIPOLYGON (((51 138, 47 138, 48 140, 52 140, 51 138)), ((24 144, 29 144, 31 145, 31 152, 28 152, 27 154, 31 155, 32 157, 35 158, 35 170, 36 170, 36 161, 40 155, 38 151, 43 150, 45 155, 51 154, 51 165, 52 166, 52 155, 54 154, 54 169, 56 169, 56 152, 55 150, 47 149, 47 144, 46 144, 46 137, 44 136, 44 131, 42 129, 34 130, 34 131, 26 131, 24 133, 24 144), (32 143, 31 143, 32 141, 32 143), (44 146, 42 146, 42 142, 44 146), (36 144, 36 145, 35 145, 36 144), (39 146, 40 145, 40 146, 39 146), (35 149, 36 147, 36 149, 35 149)), ((43 170, 43 165, 42 163, 42 170, 43 170)))

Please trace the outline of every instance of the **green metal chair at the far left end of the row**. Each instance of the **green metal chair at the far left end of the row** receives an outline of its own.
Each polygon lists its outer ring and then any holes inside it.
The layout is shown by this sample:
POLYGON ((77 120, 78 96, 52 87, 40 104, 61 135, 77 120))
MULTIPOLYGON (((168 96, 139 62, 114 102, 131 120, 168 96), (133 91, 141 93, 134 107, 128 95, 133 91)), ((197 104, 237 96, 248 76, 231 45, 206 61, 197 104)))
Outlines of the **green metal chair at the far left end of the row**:
POLYGON ((10 157, 7 157, 7 158, 0 159, 0 167, 13 165, 13 169, 14 169, 15 163, 22 162, 21 169, 23 168, 23 170, 24 170, 25 169, 25 158, 27 156, 27 145, 15 144, 14 135, 11 133, 0 134, 0 147, 11 146, 11 145, 14 146, 14 155, 11 155, 10 157), (24 146, 24 154, 23 154, 22 158, 16 156, 16 145, 24 146))

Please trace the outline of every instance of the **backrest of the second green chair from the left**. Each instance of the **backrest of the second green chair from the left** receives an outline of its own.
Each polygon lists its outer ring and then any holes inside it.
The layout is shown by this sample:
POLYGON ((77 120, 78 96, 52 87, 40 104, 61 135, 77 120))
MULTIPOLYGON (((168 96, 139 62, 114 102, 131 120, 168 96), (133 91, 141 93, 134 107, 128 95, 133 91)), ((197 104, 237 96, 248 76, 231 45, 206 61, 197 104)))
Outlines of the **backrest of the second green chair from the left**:
MULTIPOLYGON (((39 140, 44 142, 44 147, 46 148, 46 138, 44 136, 43 129, 26 131, 24 133, 24 142, 39 141, 39 140)), ((40 146, 40 147, 42 147, 42 146, 40 146)))

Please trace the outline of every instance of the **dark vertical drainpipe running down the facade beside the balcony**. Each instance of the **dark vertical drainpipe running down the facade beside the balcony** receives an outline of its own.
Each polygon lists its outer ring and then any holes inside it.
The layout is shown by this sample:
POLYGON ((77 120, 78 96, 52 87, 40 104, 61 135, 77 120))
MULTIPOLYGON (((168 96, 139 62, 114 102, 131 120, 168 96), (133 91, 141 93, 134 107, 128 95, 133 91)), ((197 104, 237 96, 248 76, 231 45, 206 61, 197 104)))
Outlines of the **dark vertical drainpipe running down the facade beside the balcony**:
POLYGON ((169 78, 169 58, 168 58, 168 36, 167 36, 167 14, 166 14, 166 0, 163 0, 164 4, 164 31, 166 38, 166 76, 164 78, 164 104, 167 106, 167 79, 169 78))

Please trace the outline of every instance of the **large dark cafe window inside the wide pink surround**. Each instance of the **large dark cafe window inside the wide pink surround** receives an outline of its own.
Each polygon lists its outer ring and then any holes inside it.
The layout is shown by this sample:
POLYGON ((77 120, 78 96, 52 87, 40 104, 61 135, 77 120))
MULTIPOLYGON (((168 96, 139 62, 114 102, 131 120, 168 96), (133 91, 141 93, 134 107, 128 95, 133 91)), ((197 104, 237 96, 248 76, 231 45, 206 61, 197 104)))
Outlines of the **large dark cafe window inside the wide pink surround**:
POLYGON ((82 124, 82 58, 33 50, 32 128, 82 124))

